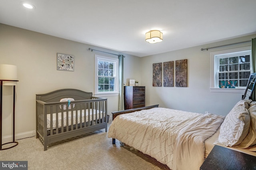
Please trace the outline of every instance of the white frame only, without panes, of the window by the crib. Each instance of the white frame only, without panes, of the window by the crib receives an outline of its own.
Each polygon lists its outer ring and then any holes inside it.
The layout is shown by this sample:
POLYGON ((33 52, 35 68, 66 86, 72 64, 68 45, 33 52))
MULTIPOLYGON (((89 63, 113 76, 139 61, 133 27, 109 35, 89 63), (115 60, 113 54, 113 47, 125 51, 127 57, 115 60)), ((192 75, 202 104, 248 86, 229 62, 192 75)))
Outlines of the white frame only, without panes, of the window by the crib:
POLYGON ((102 55, 95 55, 95 82, 94 82, 94 96, 118 96, 119 94, 119 76, 118 76, 118 63, 119 60, 112 57, 106 57, 102 55), (115 78, 114 91, 111 92, 99 92, 98 91, 98 61, 108 61, 114 63, 113 77, 115 78))

